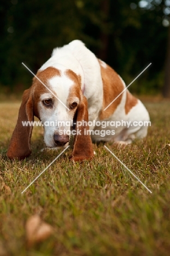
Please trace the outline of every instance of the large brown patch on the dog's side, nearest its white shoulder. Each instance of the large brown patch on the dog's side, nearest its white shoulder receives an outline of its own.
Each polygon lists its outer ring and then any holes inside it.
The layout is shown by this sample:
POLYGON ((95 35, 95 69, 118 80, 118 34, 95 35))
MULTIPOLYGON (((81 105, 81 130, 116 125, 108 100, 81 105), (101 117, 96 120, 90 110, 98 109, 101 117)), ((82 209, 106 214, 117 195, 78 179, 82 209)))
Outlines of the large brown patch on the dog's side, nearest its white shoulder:
POLYGON ((120 104, 122 95, 120 95, 116 101, 104 111, 108 104, 110 104, 124 90, 124 85, 114 69, 108 65, 106 65, 106 68, 102 67, 100 60, 99 63, 104 90, 103 106, 99 118, 100 120, 103 120, 110 117, 120 104))

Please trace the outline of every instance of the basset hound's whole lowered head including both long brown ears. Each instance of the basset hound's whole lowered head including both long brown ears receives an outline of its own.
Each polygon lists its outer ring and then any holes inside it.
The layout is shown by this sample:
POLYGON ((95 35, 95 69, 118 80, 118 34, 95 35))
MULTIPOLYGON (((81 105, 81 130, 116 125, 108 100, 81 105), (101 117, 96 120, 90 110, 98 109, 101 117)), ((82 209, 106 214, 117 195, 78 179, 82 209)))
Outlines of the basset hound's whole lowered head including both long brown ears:
MULTIPOLYGON (((31 88, 23 93, 19 117, 7 152, 8 158, 24 159, 31 154, 33 125, 23 126, 23 122, 34 121, 34 116, 44 126, 47 147, 67 146, 72 120, 76 117, 76 124, 82 120, 88 122, 87 100, 82 94, 80 75, 70 69, 61 71, 54 67, 47 67, 37 73, 31 88)), ((88 130, 88 127, 76 127, 71 157, 75 161, 93 156, 92 140, 84 134, 84 129, 88 130)))

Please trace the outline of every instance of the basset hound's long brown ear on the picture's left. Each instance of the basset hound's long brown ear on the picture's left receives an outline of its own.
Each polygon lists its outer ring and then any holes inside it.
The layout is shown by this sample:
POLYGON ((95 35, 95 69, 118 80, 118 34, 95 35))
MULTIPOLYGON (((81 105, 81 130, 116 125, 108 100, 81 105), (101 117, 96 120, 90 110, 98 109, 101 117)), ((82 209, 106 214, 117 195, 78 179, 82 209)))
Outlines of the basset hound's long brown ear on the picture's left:
POLYGON ((9 159, 19 158, 21 160, 31 154, 30 141, 33 126, 23 126, 22 121, 34 121, 31 89, 23 92, 19 117, 7 151, 9 159))

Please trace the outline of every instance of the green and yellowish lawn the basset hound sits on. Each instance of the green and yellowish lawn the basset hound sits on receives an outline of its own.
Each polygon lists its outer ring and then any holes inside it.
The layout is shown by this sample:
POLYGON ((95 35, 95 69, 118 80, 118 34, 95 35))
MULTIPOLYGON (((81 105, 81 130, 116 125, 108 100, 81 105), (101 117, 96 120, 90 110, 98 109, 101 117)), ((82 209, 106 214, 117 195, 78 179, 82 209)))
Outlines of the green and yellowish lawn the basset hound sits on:
POLYGON ((32 155, 5 156, 19 103, 0 104, 0 255, 169 255, 170 103, 146 103, 151 127, 125 148, 106 143, 147 185, 150 194, 102 145, 93 161, 69 162, 71 148, 33 181, 59 152, 40 152, 43 130, 34 127, 32 155), (26 220, 35 213, 54 234, 27 249, 26 220))

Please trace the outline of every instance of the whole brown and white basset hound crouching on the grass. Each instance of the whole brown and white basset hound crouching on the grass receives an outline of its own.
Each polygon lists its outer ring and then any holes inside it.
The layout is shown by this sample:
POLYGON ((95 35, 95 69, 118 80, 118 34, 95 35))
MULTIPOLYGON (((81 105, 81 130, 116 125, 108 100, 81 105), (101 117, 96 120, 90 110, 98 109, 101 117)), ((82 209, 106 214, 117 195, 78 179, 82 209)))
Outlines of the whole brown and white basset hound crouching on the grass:
MULTIPOLYGON (((33 126, 23 126, 22 121, 34 121, 34 116, 42 124, 46 121, 60 120, 66 123, 76 120, 74 129, 78 132, 74 136, 70 157, 74 161, 93 158, 92 141, 131 142, 135 138, 145 137, 148 127, 133 125, 133 121, 149 121, 148 111, 125 88, 122 78, 80 40, 54 49, 51 58, 33 78, 31 88, 23 92, 19 117, 7 152, 8 158, 24 159, 31 154, 33 126), (122 120, 130 121, 131 125, 113 126, 113 121, 120 123, 122 120), (106 121, 106 127, 96 125, 103 121, 106 121), (93 133, 90 135, 87 131, 93 133), (101 136, 101 131, 106 131, 105 136, 101 136)), ((46 146, 66 147, 70 133, 63 131, 71 131, 69 124, 44 125, 46 146)))

